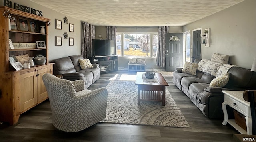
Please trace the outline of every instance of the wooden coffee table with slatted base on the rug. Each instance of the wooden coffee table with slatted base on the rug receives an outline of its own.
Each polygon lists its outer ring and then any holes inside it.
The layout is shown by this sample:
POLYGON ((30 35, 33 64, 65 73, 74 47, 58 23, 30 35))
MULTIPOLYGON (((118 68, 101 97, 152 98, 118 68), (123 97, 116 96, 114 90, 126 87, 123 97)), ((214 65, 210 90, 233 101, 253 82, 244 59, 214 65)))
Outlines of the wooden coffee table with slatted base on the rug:
POLYGON ((135 84, 138 85, 138 105, 140 100, 144 101, 158 101, 165 106, 165 87, 169 86, 161 73, 155 73, 158 82, 148 83, 143 82, 142 74, 144 72, 137 72, 135 84))

